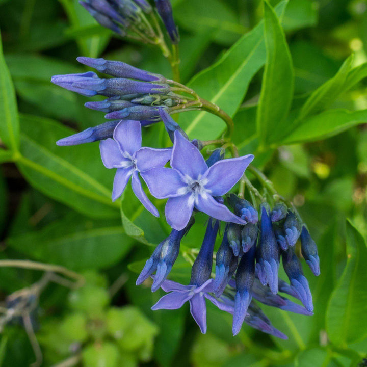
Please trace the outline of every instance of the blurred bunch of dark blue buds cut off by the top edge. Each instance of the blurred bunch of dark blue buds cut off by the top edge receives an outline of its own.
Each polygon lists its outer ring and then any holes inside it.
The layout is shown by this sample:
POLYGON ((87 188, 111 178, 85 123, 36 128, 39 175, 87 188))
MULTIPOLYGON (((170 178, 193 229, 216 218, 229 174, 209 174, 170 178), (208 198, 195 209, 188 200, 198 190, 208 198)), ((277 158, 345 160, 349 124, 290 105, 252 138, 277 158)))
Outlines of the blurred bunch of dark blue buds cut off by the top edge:
MULTIPOLYGON (((153 9, 146 0, 81 0, 80 4, 103 27, 122 37, 157 44, 162 32, 153 9)), ((156 0, 156 11, 161 16, 172 43, 179 41, 169 0, 156 0)))

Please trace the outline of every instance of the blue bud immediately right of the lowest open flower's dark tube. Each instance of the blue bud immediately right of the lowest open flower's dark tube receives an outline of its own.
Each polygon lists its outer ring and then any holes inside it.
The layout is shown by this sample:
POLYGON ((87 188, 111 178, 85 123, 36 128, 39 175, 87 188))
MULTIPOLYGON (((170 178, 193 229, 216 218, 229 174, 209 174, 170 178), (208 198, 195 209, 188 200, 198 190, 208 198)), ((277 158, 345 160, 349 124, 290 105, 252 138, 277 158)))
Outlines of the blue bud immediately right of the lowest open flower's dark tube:
POLYGON ((228 243, 227 231, 228 225, 223 234, 222 244, 217 251, 216 275, 213 286, 213 292, 216 297, 223 293, 238 265, 238 258, 234 256, 233 250, 228 243))

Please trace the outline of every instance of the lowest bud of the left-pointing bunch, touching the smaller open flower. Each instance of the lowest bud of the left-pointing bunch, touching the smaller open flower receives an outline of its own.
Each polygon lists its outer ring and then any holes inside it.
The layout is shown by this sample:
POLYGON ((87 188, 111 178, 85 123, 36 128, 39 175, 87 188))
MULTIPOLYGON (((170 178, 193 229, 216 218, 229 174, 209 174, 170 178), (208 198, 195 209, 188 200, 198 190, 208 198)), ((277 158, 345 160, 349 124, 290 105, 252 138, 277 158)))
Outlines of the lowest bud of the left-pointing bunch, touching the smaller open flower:
POLYGON ((108 121, 94 127, 89 127, 80 133, 58 140, 56 144, 59 146, 68 146, 112 138, 114 129, 119 122, 119 120, 108 121))

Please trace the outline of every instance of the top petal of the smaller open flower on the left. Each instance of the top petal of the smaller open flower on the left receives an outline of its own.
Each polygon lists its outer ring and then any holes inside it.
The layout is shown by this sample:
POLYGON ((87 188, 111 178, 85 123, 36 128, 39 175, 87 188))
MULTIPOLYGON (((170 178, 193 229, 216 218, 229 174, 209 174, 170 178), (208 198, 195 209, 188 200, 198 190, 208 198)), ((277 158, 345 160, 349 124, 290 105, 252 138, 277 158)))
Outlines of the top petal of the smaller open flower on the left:
POLYGON ((133 155, 141 148, 141 125, 139 121, 120 121, 114 131, 114 139, 121 152, 133 155))

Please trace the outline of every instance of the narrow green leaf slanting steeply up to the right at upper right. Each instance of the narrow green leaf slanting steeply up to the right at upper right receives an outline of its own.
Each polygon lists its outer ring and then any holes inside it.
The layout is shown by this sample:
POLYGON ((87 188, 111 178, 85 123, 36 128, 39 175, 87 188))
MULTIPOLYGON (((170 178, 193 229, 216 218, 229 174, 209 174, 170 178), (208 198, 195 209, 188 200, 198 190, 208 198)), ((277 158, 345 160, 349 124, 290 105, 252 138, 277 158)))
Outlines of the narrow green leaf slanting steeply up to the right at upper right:
POLYGON ((311 114, 326 108, 343 92, 353 62, 351 55, 340 67, 336 75, 314 91, 304 103, 296 121, 301 121, 311 114))

